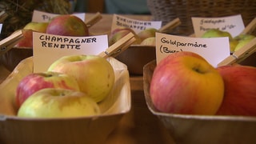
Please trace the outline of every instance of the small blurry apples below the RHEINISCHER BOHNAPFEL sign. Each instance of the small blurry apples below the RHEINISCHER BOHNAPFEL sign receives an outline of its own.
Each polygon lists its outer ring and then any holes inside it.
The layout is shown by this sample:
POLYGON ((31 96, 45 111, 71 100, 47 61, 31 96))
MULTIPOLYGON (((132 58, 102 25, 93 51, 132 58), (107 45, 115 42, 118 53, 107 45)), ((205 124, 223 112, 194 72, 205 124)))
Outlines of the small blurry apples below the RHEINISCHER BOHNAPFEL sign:
POLYGON ((128 27, 118 27, 111 31, 109 35, 109 46, 113 45, 115 42, 118 42, 121 38, 126 36, 126 34, 133 33, 136 38, 135 45, 142 46, 155 46, 155 33, 158 32, 155 28, 146 28, 145 30, 140 31, 138 34, 134 30, 128 27))

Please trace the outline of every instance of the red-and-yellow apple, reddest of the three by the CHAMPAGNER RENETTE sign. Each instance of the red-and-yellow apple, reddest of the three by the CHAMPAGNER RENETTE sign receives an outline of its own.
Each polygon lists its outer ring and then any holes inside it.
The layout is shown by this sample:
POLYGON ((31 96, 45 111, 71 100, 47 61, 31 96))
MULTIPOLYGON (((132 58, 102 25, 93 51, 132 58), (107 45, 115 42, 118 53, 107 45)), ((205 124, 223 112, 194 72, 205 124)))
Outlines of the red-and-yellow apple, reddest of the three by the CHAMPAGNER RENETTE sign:
POLYGON ((62 88, 79 90, 78 82, 67 74, 46 71, 26 75, 18 83, 16 88, 16 104, 18 107, 26 101, 30 95, 45 88, 62 88))

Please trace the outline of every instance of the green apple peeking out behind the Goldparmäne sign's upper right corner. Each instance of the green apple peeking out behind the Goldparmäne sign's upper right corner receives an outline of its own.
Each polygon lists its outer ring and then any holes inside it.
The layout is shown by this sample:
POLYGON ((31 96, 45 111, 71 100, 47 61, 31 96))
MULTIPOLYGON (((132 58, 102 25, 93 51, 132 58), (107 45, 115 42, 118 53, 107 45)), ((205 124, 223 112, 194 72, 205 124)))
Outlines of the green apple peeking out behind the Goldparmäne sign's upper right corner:
POLYGON ((238 42, 232 37, 232 35, 228 31, 210 29, 210 30, 206 30, 206 32, 202 34, 202 38, 220 38, 220 37, 229 38, 230 53, 234 52, 234 48, 238 44, 238 42))

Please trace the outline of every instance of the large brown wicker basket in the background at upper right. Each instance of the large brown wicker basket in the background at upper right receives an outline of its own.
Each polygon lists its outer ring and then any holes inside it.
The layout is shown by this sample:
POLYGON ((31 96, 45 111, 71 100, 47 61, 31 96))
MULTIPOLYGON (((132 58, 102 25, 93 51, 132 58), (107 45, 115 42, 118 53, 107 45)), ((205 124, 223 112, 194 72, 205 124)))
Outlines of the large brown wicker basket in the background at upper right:
POLYGON ((162 21, 163 24, 180 18, 182 24, 172 31, 172 34, 178 35, 194 33, 191 17, 241 14, 245 26, 256 17, 255 0, 147 0, 147 5, 153 20, 162 21))

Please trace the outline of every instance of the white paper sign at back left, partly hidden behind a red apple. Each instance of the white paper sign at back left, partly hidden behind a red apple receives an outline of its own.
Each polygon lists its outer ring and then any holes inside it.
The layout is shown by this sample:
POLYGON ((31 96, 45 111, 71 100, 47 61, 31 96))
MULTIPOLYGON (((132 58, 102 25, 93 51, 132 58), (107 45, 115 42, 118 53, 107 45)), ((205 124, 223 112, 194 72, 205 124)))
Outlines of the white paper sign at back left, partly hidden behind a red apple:
MULTIPOLYGON (((34 10, 32 15, 32 22, 49 22, 52 18, 58 15, 60 14, 51 14, 43 11, 34 10)), ((85 22, 85 18, 86 18, 85 13, 77 13, 72 15, 77 16, 78 18, 82 19, 83 22, 85 22)))

